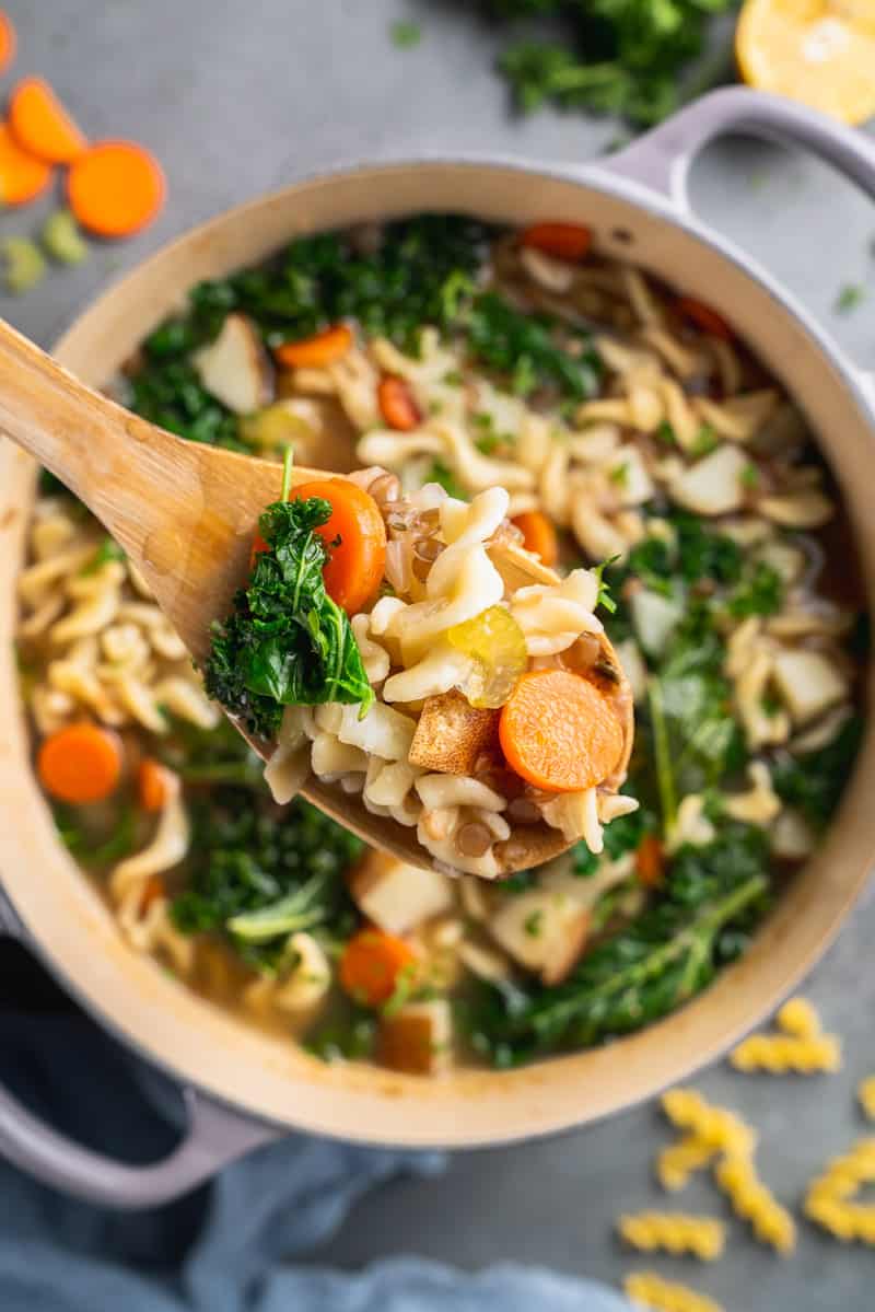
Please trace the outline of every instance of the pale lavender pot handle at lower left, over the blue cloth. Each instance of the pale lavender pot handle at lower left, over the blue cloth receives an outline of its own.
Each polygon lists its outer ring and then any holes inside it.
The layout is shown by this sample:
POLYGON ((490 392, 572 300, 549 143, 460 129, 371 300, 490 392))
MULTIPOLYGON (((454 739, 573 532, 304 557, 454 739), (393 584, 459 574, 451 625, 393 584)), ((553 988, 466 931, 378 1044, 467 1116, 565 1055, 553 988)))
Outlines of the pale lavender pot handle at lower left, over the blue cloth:
MULTIPOLYGON (((28 934, 0 890, 0 932, 28 934)), ((130 1166, 59 1134, 0 1086, 0 1155, 46 1185, 105 1207, 157 1207, 203 1183, 279 1130, 234 1111, 195 1089, 182 1090, 186 1130, 163 1161, 130 1166)))

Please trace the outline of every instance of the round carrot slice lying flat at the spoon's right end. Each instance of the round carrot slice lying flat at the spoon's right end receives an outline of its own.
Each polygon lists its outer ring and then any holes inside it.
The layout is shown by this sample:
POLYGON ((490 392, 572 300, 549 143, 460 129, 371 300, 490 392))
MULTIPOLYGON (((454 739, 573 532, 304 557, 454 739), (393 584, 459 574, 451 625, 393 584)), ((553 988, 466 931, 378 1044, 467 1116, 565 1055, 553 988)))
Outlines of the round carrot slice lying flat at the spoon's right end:
POLYGON ((499 739, 510 769, 550 792, 592 789, 623 753, 623 728, 605 694, 564 669, 519 678, 501 708, 499 739))

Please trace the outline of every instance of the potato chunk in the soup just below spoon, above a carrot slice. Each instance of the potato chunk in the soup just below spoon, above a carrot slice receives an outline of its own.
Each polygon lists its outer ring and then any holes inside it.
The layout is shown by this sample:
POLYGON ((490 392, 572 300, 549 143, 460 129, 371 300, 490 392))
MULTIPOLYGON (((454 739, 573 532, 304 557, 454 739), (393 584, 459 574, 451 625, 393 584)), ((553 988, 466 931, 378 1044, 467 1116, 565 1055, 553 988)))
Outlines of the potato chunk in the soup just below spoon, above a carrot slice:
POLYGON ((407 934, 455 905, 447 875, 408 866, 382 851, 369 851, 356 866, 349 891, 361 913, 388 934, 407 934))

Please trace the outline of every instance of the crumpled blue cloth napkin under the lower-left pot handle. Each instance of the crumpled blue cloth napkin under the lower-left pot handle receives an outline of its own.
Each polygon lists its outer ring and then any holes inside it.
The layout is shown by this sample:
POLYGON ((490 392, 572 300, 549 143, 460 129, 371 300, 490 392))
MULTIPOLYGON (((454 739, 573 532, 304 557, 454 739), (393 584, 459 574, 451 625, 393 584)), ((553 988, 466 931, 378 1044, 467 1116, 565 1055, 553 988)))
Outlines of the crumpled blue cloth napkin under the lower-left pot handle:
MULTIPOLYGON (((1 1015, 0 1078, 126 1161, 155 1160, 178 1132, 171 1082, 79 1014, 1 1015)), ((290 1135, 177 1203, 118 1214, 0 1162, 0 1312, 628 1312, 601 1284, 531 1267, 295 1265, 374 1185, 441 1169, 434 1153, 290 1135)))

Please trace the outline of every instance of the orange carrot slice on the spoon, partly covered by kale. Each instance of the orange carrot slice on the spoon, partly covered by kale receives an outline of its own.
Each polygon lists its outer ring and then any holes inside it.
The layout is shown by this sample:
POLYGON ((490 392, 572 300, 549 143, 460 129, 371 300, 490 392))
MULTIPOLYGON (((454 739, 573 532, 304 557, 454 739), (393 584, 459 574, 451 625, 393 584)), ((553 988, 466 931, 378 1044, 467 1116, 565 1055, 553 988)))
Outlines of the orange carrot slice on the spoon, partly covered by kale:
POLYGON ((332 514, 316 533, 329 558, 323 571, 325 590, 354 615, 374 596, 386 568, 386 525, 373 496, 345 479, 323 479, 293 488, 290 500, 311 496, 331 501, 332 514), (340 542, 337 542, 340 538, 340 542), (335 546, 335 543, 337 543, 335 546))

